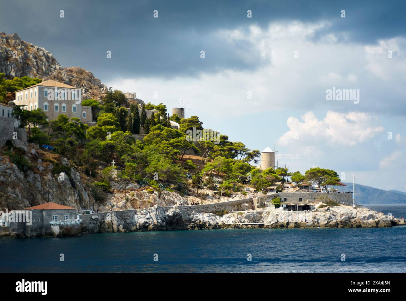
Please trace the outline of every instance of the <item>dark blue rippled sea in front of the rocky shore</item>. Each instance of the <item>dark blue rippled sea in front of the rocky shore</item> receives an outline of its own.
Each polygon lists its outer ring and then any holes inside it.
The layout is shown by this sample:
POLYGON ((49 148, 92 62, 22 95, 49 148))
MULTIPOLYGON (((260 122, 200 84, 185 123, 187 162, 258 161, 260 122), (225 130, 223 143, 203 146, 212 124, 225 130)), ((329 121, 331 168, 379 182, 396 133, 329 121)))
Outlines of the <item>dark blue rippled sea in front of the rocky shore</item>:
POLYGON ((405 245, 406 226, 86 234, 1 239, 0 267, 2 272, 406 272, 405 245))

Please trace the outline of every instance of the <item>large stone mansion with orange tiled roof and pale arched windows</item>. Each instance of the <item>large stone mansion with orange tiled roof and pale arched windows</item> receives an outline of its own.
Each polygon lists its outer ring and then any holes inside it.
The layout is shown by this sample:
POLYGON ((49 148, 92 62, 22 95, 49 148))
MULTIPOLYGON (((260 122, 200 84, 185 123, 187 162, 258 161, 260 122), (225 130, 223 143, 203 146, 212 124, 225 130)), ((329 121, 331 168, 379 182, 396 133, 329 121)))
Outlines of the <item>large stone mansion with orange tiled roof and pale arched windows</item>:
POLYGON ((48 120, 60 114, 69 118, 78 117, 83 123, 92 121, 91 107, 82 106, 82 90, 67 84, 47 80, 28 88, 15 91, 15 105, 24 105, 26 110, 41 108, 48 120))

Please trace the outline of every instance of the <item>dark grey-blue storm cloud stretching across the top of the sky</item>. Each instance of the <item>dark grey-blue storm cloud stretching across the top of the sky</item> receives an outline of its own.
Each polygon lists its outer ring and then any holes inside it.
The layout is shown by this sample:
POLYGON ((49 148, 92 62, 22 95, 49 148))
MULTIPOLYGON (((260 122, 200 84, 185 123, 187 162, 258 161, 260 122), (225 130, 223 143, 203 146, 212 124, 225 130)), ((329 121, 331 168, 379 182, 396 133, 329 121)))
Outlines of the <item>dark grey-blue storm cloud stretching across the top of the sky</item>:
POLYGON ((103 80, 116 76, 197 75, 221 69, 255 69, 261 58, 249 43, 230 44, 216 30, 272 21, 319 22, 332 25, 317 32, 349 42, 374 43, 404 36, 404 1, 4 1, 0 31, 45 47, 63 66, 89 69, 103 80), (65 11, 65 18, 59 11, 65 11), (159 12, 153 18, 153 10, 159 12), (247 18, 246 11, 253 17, 247 18), (346 10, 346 18, 340 11, 346 10), (106 59, 106 51, 112 58, 106 59), (200 51, 205 50, 205 60, 200 51))

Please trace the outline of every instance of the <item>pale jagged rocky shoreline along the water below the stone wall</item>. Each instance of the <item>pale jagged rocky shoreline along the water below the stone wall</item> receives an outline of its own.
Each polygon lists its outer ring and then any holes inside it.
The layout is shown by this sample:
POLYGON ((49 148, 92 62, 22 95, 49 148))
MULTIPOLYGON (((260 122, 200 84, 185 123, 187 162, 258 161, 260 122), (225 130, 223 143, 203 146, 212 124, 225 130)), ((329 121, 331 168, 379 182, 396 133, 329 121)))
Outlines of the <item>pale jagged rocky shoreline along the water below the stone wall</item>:
POLYGON ((134 231, 239 229, 239 228, 382 228, 403 225, 383 213, 351 206, 324 207, 307 213, 295 211, 272 214, 268 211, 214 213, 186 213, 175 207, 165 212, 160 205, 137 210, 129 219, 120 219, 117 213, 101 218, 91 217, 84 233, 119 233, 134 231))

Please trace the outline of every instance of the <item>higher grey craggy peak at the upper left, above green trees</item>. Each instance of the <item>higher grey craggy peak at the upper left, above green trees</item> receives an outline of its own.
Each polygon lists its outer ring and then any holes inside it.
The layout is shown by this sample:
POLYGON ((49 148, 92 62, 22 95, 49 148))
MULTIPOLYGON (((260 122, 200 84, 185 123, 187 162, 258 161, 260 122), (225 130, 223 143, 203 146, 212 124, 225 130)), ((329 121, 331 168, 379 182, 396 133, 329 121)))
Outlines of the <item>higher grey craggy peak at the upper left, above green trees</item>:
POLYGON ((16 33, 10 36, 0 32, 0 73, 6 78, 43 78, 60 69, 62 66, 43 47, 23 41, 16 33))

